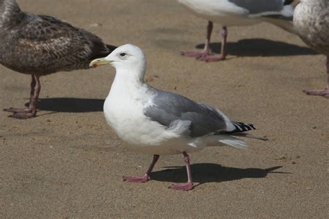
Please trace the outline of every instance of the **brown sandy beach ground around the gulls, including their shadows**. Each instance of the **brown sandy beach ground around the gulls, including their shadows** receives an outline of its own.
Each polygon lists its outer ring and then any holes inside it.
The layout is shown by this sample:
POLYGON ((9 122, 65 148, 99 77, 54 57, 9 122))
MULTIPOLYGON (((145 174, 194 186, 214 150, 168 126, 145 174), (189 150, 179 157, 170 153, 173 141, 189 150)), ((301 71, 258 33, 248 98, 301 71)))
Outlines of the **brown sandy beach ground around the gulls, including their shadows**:
MULTIPOLYGON (((176 0, 17 0, 29 13, 58 17, 109 44, 136 44, 147 58, 146 81, 216 106, 232 120, 255 124, 250 148, 208 147, 183 155, 130 152, 106 124, 114 68, 58 72, 41 78, 37 117, 0 111, 1 218, 327 218, 329 101, 305 95, 323 88, 324 56, 271 24, 228 29, 228 59, 203 63, 180 56, 202 49, 207 21, 176 0)), ((214 25, 212 51, 220 50, 214 25)), ((31 76, 0 65, 0 108, 28 102, 31 76)))

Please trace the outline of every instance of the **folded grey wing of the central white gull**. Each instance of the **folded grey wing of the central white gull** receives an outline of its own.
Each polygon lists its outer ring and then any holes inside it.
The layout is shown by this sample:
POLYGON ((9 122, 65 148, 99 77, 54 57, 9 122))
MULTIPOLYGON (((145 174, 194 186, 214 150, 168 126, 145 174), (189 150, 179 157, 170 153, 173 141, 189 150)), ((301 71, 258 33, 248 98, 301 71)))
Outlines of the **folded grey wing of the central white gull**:
POLYGON ((151 120, 166 127, 170 127, 175 120, 191 121, 191 137, 229 131, 223 115, 217 109, 171 92, 157 90, 156 93, 152 99, 153 105, 144 108, 144 114, 151 120))

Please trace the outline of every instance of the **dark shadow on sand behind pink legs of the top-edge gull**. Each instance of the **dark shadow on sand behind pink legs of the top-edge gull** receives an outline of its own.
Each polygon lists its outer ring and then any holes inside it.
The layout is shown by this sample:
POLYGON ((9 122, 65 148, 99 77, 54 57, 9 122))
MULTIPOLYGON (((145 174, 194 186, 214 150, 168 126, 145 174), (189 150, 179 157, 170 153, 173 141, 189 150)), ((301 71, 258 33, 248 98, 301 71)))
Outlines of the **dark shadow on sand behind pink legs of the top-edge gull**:
MULTIPOLYGON (((233 56, 297 56, 317 55, 308 47, 300 47, 287 42, 266 40, 266 39, 244 39, 237 42, 228 42, 226 51, 233 56)), ((203 49, 205 44, 196 45, 197 49, 203 49)), ((210 48, 215 54, 221 53, 221 43, 210 43, 210 48)))

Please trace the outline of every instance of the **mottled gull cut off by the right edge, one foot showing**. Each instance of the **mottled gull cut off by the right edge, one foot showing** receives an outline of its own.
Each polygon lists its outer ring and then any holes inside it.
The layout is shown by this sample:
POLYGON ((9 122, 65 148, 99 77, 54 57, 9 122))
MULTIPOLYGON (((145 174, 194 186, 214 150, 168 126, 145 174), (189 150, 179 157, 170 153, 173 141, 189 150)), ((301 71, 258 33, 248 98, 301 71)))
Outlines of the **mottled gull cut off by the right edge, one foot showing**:
POLYGON ((294 12, 294 27, 312 49, 327 56, 327 86, 323 90, 303 90, 307 95, 329 98, 329 1, 301 0, 294 12))

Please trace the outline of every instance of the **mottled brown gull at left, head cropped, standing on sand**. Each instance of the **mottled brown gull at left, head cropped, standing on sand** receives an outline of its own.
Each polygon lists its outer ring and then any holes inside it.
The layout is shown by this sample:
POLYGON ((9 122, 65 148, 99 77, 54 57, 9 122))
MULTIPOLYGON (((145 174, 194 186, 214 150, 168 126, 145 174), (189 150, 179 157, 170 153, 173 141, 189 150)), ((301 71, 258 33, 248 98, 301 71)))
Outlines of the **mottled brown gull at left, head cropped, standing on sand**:
POLYGON ((0 0, 0 29, 0 64, 32 78, 28 108, 4 109, 17 119, 36 116, 40 76, 87 69, 117 48, 55 17, 24 13, 15 0, 0 0))

